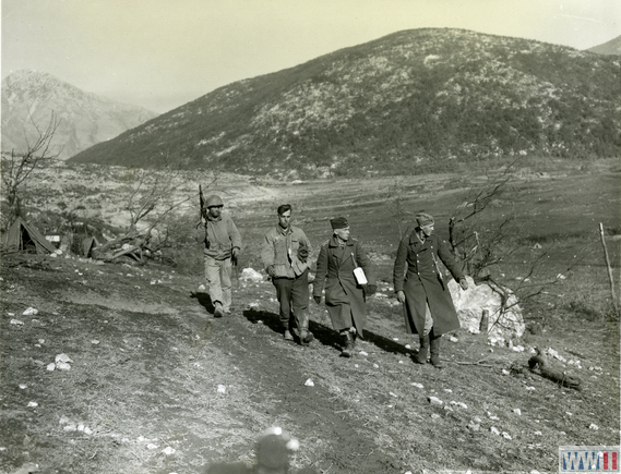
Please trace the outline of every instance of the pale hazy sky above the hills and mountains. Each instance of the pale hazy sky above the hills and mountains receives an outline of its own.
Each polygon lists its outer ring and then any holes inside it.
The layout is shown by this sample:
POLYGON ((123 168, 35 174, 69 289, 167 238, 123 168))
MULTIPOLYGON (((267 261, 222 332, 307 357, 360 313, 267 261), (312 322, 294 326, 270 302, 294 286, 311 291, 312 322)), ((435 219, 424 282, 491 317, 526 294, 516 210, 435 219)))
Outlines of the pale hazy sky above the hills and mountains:
POLYGON ((2 77, 48 72, 165 112, 242 78, 420 27, 586 49, 621 0, 1 0, 2 77))

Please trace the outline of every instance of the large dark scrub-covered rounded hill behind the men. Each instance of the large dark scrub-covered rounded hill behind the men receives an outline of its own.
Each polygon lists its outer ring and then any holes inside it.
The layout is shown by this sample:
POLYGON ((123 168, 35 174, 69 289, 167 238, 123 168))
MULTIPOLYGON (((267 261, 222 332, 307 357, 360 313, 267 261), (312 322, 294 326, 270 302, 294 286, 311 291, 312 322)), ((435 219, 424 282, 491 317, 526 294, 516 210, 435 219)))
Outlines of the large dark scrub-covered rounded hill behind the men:
POLYGON ((462 29, 414 29, 218 88, 81 162, 289 177, 455 160, 619 155, 619 58, 462 29))

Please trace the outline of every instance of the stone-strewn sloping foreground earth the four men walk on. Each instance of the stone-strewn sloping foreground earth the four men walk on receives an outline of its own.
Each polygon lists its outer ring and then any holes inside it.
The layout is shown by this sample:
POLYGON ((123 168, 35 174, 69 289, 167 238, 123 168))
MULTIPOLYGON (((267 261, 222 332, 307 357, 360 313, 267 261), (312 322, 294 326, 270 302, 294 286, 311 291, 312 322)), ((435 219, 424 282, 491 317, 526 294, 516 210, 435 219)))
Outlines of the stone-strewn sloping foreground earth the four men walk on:
POLYGON ((170 267, 3 257, 0 471, 201 473, 254 462, 271 426, 299 440, 294 472, 330 474, 556 472, 559 446, 619 445, 618 324, 568 317, 527 331, 524 352, 458 331, 439 370, 411 362, 380 275, 343 358, 314 303, 315 341, 282 338, 265 280, 236 280, 214 319, 201 279, 170 267), (535 347, 582 390, 528 370, 535 347))

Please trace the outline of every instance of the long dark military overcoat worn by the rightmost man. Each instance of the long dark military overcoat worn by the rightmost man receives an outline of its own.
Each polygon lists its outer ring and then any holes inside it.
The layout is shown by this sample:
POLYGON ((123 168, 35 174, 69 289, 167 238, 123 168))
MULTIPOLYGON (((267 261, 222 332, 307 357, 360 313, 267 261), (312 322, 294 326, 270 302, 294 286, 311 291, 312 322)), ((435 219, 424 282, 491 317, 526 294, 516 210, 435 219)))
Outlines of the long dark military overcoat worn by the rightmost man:
POLYGON ((457 312, 438 262, 441 260, 455 280, 464 278, 462 266, 442 240, 431 234, 420 241, 416 231, 399 243, 393 269, 395 292, 405 293, 405 327, 408 333, 422 335, 426 303, 433 318, 435 336, 459 328, 457 312))

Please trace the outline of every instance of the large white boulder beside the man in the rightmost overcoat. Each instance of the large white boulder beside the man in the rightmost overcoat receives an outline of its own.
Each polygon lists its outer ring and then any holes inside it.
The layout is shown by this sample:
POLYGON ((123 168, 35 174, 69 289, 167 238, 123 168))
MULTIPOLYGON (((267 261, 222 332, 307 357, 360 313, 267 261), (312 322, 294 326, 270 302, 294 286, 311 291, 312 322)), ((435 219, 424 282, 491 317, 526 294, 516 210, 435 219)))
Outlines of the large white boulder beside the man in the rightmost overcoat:
POLYGON ((449 282, 449 290, 462 328, 477 332, 482 312, 487 309, 489 312, 489 338, 511 340, 522 337, 526 327, 515 294, 507 288, 502 288, 507 299, 504 304, 505 309, 501 312, 502 296, 497 291, 486 282, 475 284, 470 277, 466 279, 469 284, 466 291, 462 290, 455 280, 451 279, 449 282))

